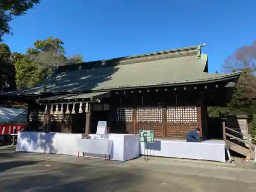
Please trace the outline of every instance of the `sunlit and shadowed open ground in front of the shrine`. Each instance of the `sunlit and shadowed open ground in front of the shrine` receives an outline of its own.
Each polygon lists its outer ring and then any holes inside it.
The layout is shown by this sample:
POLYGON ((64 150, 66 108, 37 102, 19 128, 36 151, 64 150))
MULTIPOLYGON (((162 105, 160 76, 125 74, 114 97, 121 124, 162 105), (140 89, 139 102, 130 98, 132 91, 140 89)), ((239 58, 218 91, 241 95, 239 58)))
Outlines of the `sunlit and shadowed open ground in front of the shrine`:
MULTIPOLYGON (((146 164, 141 159, 104 162, 101 159, 16 153, 13 148, 0 147, 0 191, 256 191, 256 180, 242 181, 233 174, 247 174, 249 170, 241 171, 233 166, 220 168, 220 165, 218 169, 210 163, 193 168, 179 160, 177 163, 166 162, 159 163, 154 159, 146 164), (211 176, 210 173, 216 170, 218 172, 211 176)), ((255 176, 256 172, 250 174, 255 176)))

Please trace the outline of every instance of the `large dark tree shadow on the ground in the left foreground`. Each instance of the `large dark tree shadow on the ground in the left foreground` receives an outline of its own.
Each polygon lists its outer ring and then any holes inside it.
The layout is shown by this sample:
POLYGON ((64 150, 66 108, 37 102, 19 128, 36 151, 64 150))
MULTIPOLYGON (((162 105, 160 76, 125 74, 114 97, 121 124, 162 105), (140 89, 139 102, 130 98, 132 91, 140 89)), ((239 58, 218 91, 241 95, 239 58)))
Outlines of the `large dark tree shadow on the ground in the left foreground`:
MULTIPOLYGON (((115 191, 120 188, 136 187, 143 177, 129 169, 105 169, 98 166, 68 165, 63 168, 46 165, 31 165, 22 173, 23 168, 9 170, 2 176, 0 191, 115 191), (32 168, 36 167, 36 168, 32 168), (17 174, 17 170, 19 173, 17 174), (35 170, 36 169, 36 170, 35 170)), ((1 177, 1 175, 0 175, 1 177)), ((143 181, 145 182, 145 181, 143 181)))

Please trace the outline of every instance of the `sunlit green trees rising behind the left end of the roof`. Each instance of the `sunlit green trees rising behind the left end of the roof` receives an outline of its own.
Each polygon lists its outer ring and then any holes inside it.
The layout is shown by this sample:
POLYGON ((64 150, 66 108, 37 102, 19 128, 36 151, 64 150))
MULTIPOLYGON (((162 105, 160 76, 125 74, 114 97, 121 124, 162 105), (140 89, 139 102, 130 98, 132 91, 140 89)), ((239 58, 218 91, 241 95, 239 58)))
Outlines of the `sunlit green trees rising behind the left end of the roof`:
MULTIPOLYGON (((9 61, 15 67, 17 89, 31 88, 44 81, 45 77, 51 77, 54 68, 66 63, 82 62, 80 55, 66 57, 64 43, 58 38, 48 37, 45 40, 37 40, 32 48, 27 49, 26 54, 10 53, 9 61)), ((15 77, 15 78, 14 78, 15 77)))

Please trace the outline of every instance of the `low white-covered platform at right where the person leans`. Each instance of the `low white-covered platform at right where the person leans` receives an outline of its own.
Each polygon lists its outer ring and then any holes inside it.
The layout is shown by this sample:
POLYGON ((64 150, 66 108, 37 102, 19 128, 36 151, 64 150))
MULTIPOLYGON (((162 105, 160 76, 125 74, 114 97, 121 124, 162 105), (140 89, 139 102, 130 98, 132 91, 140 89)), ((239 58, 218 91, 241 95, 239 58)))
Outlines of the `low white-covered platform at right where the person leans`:
MULTIPOLYGON (((151 156, 226 161, 224 141, 191 143, 184 140, 156 139, 155 143, 147 143, 146 148, 146 153, 151 156)), ((140 143, 139 153, 144 155, 144 143, 140 143)))

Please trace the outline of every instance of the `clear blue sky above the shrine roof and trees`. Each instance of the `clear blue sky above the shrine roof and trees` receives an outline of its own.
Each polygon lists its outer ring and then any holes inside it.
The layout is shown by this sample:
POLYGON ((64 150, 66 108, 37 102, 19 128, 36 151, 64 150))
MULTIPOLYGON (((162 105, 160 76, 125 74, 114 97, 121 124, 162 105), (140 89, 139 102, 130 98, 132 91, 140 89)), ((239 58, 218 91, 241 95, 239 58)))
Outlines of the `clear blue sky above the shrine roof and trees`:
POLYGON ((67 55, 85 61, 143 54, 207 42, 209 70, 256 40, 254 0, 41 0, 11 22, 5 43, 25 52, 37 39, 58 37, 67 55), (72 3, 71 3, 72 2, 72 3))

